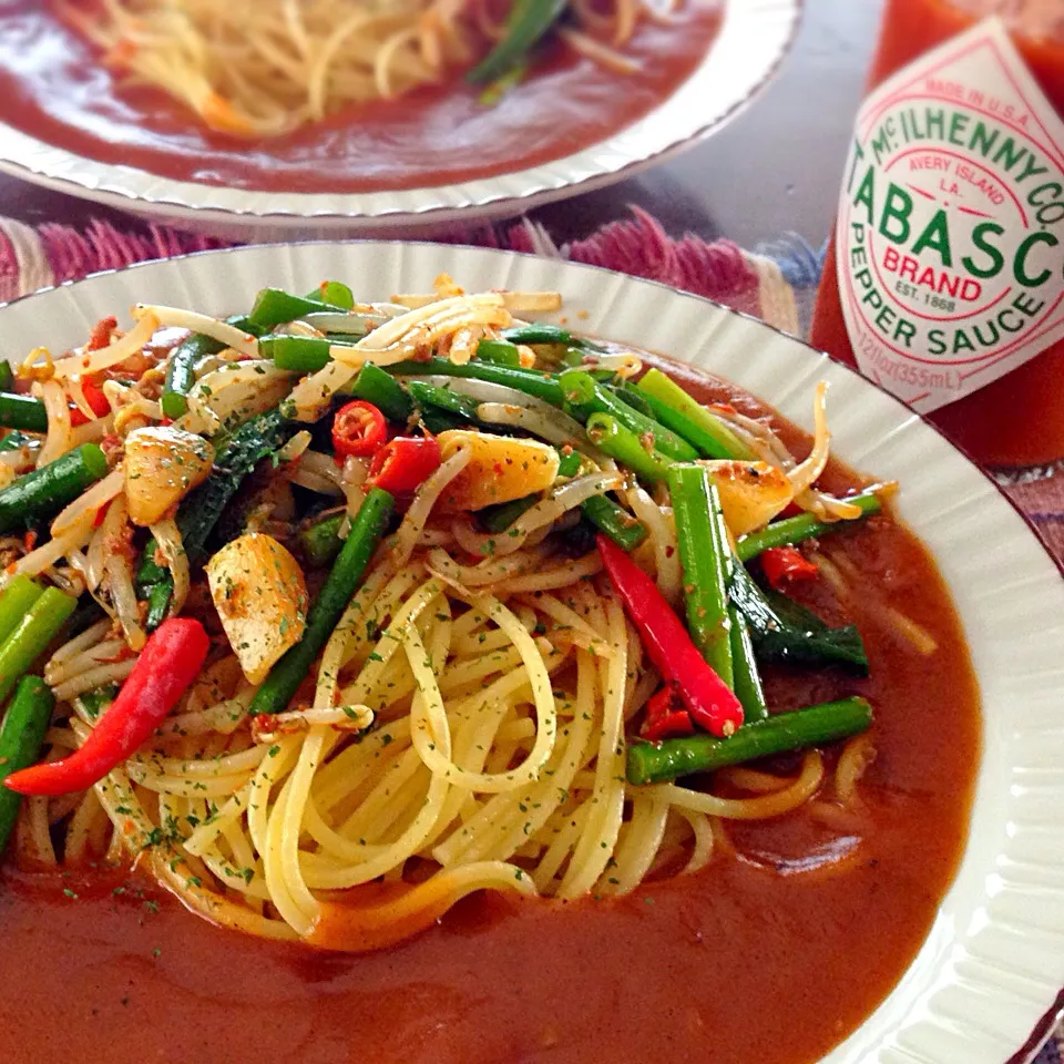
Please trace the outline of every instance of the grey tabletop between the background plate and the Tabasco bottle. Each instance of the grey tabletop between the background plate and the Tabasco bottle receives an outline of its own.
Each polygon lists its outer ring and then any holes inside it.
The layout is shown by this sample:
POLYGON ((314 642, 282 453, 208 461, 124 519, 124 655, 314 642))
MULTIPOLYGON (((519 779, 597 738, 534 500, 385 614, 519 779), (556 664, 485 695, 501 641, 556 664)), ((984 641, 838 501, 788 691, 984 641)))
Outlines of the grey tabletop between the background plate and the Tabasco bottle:
MULTIPOLYGON (((797 233, 819 246, 835 215, 880 8, 881 0, 805 0, 801 29, 778 76, 724 129, 640 177, 533 216, 561 242, 586 236, 637 204, 675 235, 727 236, 753 248, 797 233)), ((31 225, 122 218, 7 175, 0 175, 0 214, 31 225)))

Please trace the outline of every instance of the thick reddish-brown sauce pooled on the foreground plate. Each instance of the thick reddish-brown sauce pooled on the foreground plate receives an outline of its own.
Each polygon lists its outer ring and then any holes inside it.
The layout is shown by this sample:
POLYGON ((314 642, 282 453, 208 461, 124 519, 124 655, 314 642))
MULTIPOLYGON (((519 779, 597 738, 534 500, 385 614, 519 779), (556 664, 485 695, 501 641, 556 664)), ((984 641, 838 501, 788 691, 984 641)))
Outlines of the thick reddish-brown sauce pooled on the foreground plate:
MULTIPOLYGON (((765 410, 683 376, 704 400, 765 410)), ((777 424, 796 449, 808 446, 777 424)), ((836 488, 853 482, 840 466, 829 472, 836 488)), ((733 822, 736 852, 718 852, 695 876, 567 906, 472 897, 406 944, 362 955, 215 929, 125 871, 64 878, 9 864, 0 873, 6 1064, 818 1058, 869 1015, 923 942, 963 850, 980 755, 975 679, 923 546, 887 518, 832 545, 867 574, 870 593, 843 608, 819 586, 806 601, 826 620, 860 626, 871 675, 775 671, 767 686, 776 708, 851 693, 874 704, 878 757, 860 784, 856 835, 807 809, 733 822), (925 626, 938 652, 923 657, 899 641, 869 612, 876 596, 925 626), (832 863, 855 843, 849 860, 832 863)))

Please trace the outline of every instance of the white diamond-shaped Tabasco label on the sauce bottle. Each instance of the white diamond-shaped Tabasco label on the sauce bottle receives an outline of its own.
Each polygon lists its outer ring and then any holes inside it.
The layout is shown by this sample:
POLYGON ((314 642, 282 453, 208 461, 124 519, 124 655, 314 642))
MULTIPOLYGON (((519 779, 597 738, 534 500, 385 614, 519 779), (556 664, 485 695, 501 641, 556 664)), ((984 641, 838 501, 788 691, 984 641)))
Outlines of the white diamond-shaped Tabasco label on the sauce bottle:
POLYGON ((1064 337, 1064 122, 999 19, 864 101, 837 244, 861 372, 917 410, 1064 337))

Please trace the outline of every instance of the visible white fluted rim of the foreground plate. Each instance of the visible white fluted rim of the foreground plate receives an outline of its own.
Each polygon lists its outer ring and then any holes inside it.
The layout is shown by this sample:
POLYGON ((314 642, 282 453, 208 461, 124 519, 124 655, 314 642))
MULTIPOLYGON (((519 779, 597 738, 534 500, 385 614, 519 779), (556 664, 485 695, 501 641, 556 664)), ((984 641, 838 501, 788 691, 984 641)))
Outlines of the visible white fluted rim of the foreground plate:
POLYGON ((984 726, 956 880, 901 982, 825 1064, 1025 1060, 1032 1030, 1047 1030, 1064 985, 1064 580, 993 483, 897 399, 696 296, 587 266, 423 244, 246 247, 100 274, 0 308, 0 356, 81 342, 99 318, 135 301, 221 315, 248 306, 266 285, 299 291, 324 277, 388 298, 430 290, 443 270, 471 290, 559 289, 563 315, 581 329, 704 366, 809 430, 812 388, 830 382, 833 450, 901 483, 901 515, 950 585, 984 726))

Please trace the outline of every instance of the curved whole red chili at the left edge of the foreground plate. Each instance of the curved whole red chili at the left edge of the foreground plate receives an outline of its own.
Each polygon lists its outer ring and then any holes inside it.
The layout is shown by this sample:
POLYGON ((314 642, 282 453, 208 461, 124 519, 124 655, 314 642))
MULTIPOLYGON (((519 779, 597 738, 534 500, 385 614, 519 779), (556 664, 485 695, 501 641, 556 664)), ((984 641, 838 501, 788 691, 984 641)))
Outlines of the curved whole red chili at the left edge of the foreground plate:
POLYGON ((84 745, 60 761, 12 773, 3 782, 20 795, 86 790, 121 765, 158 727, 200 675, 209 640, 198 621, 164 621, 144 644, 117 698, 84 745))

